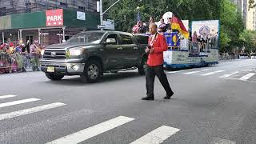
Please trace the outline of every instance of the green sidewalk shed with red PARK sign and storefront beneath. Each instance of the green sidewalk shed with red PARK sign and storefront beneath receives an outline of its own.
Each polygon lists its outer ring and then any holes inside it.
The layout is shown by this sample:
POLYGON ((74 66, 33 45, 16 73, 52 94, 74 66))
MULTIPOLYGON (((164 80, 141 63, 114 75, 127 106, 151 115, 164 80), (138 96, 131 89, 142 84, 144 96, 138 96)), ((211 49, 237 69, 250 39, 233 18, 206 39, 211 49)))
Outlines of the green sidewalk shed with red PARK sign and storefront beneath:
POLYGON ((96 30, 99 14, 72 10, 46 10, 0 17, 0 42, 33 42, 48 46, 66 41, 83 30, 96 30))

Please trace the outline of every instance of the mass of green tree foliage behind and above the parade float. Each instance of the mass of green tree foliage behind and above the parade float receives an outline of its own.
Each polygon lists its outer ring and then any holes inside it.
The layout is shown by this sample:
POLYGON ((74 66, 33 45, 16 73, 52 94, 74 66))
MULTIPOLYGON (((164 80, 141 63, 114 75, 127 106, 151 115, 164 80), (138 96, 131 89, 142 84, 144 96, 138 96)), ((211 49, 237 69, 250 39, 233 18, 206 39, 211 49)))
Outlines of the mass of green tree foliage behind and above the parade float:
MULTIPOLYGON (((103 0, 106 10, 116 0, 103 0)), ((254 3, 254 0, 250 0, 254 3)), ((244 30, 241 11, 230 0, 121 0, 110 9, 105 18, 115 21, 116 30, 131 32, 137 22, 137 7, 142 22, 148 22, 150 16, 158 22, 167 11, 175 12, 182 19, 191 21, 219 19, 221 52, 241 47, 240 34, 244 30)), ((248 45, 252 46, 252 45, 248 45)))

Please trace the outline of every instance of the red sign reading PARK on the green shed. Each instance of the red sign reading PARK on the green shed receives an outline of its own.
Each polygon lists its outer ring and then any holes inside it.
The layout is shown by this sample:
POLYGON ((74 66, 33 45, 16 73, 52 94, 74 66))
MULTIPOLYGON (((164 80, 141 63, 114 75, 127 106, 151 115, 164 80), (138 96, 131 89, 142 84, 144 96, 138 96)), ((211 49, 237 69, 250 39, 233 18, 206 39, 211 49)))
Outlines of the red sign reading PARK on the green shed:
POLYGON ((63 10, 46 10, 46 26, 63 26, 63 10))

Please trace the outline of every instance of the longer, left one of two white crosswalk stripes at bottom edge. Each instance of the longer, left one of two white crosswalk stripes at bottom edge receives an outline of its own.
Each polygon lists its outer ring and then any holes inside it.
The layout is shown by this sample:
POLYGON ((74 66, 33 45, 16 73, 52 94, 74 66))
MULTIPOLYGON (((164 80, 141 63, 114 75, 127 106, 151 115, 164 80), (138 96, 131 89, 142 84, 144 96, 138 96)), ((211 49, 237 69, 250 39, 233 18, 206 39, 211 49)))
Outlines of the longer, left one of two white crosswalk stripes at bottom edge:
POLYGON ((89 138, 93 138, 94 136, 102 134, 108 130, 112 130, 118 126, 122 126, 123 124, 133 120, 134 118, 119 116, 117 118, 110 119, 109 121, 102 122, 98 125, 91 126, 85 130, 80 130, 74 134, 58 138, 52 142, 47 142, 46 144, 76 144, 86 141, 89 138))

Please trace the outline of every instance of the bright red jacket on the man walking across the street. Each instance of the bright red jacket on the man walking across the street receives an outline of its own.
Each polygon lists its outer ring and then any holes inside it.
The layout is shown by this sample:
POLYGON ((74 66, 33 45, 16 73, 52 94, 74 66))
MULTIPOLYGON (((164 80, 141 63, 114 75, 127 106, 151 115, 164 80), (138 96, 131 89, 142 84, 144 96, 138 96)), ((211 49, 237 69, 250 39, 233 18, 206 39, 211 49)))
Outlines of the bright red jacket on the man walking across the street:
MULTIPOLYGON (((149 45, 151 43, 151 39, 154 36, 150 36, 149 38, 149 45)), ((160 66, 163 64, 163 52, 168 50, 168 46, 166 43, 166 38, 162 34, 158 34, 153 42, 154 52, 149 54, 147 59, 147 64, 149 66, 160 66)))

